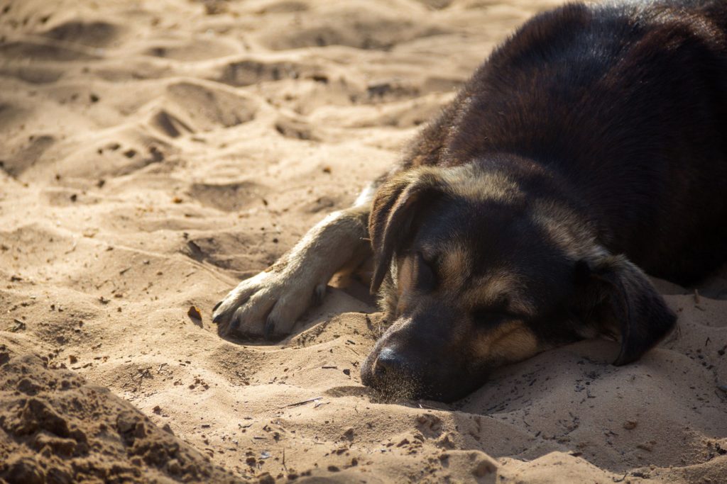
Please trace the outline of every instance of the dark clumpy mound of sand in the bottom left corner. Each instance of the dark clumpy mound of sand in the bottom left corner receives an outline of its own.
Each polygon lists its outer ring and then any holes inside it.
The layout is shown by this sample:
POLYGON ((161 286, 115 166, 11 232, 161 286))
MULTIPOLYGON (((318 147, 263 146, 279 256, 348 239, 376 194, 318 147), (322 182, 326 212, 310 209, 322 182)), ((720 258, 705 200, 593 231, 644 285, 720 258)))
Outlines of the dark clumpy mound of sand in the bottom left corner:
POLYGON ((0 345, 0 478, 11 483, 239 482, 108 388, 0 345))

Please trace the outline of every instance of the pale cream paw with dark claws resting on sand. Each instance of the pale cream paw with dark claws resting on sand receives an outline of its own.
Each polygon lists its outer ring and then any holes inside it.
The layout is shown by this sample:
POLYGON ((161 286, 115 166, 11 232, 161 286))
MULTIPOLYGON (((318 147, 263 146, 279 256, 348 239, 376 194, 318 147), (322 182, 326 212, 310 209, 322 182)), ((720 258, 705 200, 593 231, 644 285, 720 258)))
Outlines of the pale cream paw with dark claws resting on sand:
POLYGON ((326 282, 286 270, 261 272, 217 303, 212 320, 222 335, 284 337, 308 306, 323 298, 326 282))

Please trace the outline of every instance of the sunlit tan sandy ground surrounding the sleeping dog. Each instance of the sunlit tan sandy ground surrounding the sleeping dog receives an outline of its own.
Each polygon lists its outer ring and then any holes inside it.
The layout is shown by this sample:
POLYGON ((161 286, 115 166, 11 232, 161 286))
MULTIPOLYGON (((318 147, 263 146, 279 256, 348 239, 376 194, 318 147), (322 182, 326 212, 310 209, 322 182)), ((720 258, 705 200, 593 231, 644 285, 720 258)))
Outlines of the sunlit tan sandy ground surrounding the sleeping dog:
POLYGON ((657 282, 680 331, 638 364, 587 341, 454 405, 361 386, 356 284, 280 344, 210 321, 557 3, 0 1, 0 481, 726 482, 727 271, 657 282))

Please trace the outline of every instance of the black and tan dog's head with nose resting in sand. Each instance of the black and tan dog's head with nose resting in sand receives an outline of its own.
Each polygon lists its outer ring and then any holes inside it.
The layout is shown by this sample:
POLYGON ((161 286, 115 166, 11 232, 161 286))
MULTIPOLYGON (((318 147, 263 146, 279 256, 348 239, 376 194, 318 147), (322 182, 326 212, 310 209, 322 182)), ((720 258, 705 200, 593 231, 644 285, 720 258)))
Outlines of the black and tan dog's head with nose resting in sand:
POLYGON ((414 168, 379 188, 371 286, 391 324, 361 369, 365 385, 452 401, 547 348, 620 335, 621 365, 672 328, 643 272, 595 242, 552 180, 497 165, 414 168))

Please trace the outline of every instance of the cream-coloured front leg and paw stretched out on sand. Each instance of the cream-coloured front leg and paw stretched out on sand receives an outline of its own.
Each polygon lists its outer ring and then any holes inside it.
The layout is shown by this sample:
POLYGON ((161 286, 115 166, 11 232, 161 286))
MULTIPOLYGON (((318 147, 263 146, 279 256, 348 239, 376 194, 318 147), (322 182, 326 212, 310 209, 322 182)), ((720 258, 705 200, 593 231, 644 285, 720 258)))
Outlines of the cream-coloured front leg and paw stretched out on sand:
POLYGON ((289 335, 295 321, 326 293, 331 277, 369 246, 368 220, 374 186, 356 203, 324 218, 289 253, 246 279, 214 306, 220 334, 265 338, 289 335))

